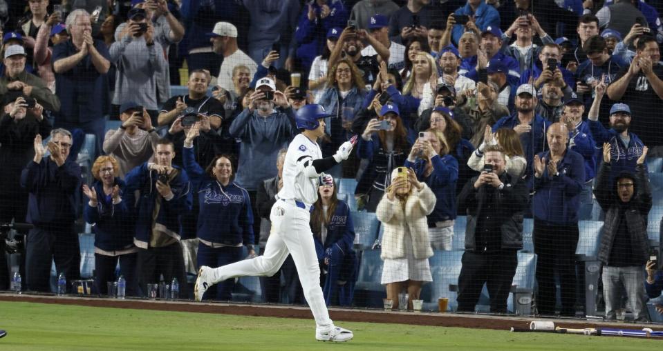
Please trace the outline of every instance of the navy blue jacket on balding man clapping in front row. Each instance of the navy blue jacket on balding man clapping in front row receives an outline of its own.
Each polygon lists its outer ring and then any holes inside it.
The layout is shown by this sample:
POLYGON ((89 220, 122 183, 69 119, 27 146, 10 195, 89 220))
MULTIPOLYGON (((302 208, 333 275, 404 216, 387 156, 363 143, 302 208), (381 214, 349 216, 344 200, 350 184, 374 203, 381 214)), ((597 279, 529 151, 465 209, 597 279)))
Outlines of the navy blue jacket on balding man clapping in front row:
MULTIPOLYGON (((550 151, 539 157, 550 160, 550 151)), ((549 174, 548 167, 541 178, 534 178, 534 217, 552 224, 578 223, 580 192, 585 183, 585 165, 581 154, 566 150, 557 165, 559 175, 549 174)))

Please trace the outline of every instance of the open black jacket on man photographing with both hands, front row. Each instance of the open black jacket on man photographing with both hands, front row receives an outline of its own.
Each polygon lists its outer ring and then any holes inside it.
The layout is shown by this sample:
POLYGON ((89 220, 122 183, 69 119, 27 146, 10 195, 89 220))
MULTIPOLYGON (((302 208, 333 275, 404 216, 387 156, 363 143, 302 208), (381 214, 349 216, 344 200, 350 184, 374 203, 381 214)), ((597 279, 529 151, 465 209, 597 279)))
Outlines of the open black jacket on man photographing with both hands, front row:
POLYGON ((527 206, 529 192, 527 185, 507 172, 500 175, 504 188, 499 190, 490 185, 474 188, 478 176, 465 183, 463 191, 458 195, 458 209, 467 211, 467 228, 465 230, 465 250, 476 249, 475 231, 477 219, 482 218, 482 211, 487 201, 487 192, 493 192, 492 205, 497 210, 497 218, 492 223, 501 223, 503 249, 523 248, 523 210, 527 206))

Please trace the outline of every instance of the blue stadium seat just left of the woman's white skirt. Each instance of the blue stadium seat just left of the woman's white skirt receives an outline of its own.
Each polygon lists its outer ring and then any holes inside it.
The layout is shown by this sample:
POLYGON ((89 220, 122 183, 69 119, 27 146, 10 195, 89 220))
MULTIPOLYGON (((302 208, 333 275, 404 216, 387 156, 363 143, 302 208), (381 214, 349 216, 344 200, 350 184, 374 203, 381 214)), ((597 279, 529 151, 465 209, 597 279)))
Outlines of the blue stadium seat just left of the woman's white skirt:
POLYGON ((359 274, 355 284, 354 303, 356 306, 382 308, 386 297, 382 279, 382 259, 380 250, 364 250, 359 261, 359 274))

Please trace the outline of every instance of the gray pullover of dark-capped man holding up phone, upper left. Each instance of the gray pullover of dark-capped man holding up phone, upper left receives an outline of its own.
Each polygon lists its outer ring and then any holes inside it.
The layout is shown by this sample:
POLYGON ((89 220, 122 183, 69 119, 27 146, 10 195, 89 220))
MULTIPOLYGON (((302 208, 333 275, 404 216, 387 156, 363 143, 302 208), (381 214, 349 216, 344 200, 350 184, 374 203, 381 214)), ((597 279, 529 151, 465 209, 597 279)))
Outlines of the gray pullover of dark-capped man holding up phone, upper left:
POLYGON ((118 66, 113 104, 134 101, 147 110, 156 110, 156 79, 168 67, 161 44, 155 41, 147 46, 144 37, 127 35, 115 41, 109 52, 111 62, 118 66))

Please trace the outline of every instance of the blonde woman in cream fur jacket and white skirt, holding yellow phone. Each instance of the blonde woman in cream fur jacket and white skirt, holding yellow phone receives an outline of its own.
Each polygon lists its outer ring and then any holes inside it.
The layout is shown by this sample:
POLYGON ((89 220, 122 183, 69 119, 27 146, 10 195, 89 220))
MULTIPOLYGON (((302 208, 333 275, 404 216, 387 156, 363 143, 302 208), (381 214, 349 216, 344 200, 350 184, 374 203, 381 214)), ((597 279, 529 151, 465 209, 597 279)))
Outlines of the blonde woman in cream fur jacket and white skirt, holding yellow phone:
POLYGON ((435 208, 435 194, 417 180, 413 170, 399 167, 391 172, 391 185, 377 205, 377 219, 384 225, 384 261, 380 283, 386 298, 398 308, 398 294, 407 292, 408 308, 419 299, 421 287, 433 281, 428 258, 433 256, 426 216, 435 208))

